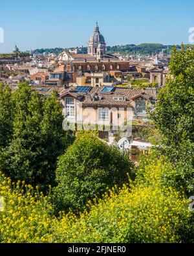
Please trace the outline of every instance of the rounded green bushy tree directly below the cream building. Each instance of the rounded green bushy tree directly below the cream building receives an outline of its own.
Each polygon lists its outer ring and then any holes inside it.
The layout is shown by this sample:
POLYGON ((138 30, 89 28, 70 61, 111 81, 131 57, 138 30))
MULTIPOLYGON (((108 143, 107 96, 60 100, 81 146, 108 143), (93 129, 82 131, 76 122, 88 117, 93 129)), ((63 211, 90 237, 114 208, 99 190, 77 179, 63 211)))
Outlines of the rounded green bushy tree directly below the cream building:
POLYGON ((131 167, 128 157, 116 148, 94 135, 81 135, 58 160, 58 186, 54 189, 58 210, 81 211, 89 200, 102 196, 107 187, 127 182, 131 167))

